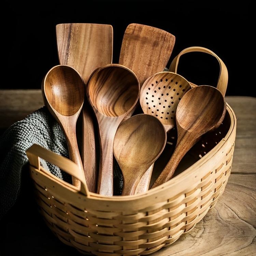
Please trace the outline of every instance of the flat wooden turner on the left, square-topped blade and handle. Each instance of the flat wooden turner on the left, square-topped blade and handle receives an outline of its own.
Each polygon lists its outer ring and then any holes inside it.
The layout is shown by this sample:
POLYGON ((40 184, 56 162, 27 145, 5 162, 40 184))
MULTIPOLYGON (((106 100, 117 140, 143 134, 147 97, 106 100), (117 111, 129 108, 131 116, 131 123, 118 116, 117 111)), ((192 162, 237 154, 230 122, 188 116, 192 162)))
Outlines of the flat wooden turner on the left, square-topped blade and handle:
MULTIPOLYGON (((113 28, 111 25, 69 23, 56 26, 59 62, 76 69, 85 84, 90 74, 112 63, 113 28)), ((90 192, 97 192, 97 167, 93 111, 85 97, 83 109, 82 162, 90 192)))

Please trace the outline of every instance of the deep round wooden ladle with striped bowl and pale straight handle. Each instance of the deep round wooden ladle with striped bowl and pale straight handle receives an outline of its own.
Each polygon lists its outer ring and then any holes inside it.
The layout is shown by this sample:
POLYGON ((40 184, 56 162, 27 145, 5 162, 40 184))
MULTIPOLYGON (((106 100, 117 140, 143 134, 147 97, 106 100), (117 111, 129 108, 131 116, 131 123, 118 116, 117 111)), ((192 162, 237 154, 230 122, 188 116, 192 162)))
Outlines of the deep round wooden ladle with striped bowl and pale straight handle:
POLYGON ((120 122, 139 99, 137 76, 127 67, 110 64, 89 77, 87 96, 98 120, 101 156, 98 193, 113 195, 113 141, 120 122))

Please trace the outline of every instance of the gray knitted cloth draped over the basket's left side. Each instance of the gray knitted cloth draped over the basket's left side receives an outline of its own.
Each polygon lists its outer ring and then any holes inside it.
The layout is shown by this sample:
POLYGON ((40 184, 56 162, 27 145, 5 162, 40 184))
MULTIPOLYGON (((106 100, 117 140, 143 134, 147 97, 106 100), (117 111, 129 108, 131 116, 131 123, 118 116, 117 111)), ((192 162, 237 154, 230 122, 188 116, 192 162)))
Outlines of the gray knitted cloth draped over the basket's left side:
MULTIPOLYGON (((0 218, 19 195, 22 170, 28 164, 26 150, 33 144, 69 158, 64 133, 45 106, 13 124, 0 137, 0 218)), ((58 167, 45 161, 42 164, 55 176, 72 183, 71 176, 58 167)), ((120 195, 122 184, 122 173, 115 164, 114 195, 120 195)))

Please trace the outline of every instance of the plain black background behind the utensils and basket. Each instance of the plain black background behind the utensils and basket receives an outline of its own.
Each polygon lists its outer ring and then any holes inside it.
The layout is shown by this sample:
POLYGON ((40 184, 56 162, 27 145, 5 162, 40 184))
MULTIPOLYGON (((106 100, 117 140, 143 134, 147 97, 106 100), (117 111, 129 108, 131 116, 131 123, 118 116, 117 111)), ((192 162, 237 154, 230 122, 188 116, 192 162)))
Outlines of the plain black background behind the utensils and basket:
MULTIPOLYGON (((256 97, 252 1, 9 1, 7 6, 7 50, 2 51, 10 80, 1 89, 41 88, 47 71, 59 65, 57 24, 112 25, 113 63, 118 63, 126 27, 140 23, 175 35, 167 68, 184 48, 206 47, 227 66, 226 96, 256 97)), ((182 56, 177 72, 198 85, 216 86, 219 66, 211 55, 189 53, 182 56)))

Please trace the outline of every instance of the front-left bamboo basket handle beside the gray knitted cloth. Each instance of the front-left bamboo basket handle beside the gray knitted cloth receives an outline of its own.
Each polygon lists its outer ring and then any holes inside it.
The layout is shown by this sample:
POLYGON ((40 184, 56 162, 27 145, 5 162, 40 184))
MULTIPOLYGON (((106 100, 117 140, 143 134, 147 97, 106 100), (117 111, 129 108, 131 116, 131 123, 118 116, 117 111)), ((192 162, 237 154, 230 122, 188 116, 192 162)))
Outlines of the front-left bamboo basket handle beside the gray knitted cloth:
MULTIPOLYGON (((26 154, 27 154, 30 165, 35 167, 38 170, 43 169, 40 165, 40 159, 39 159, 40 157, 45 161, 52 163, 53 165, 56 165, 61 170, 67 172, 71 176, 74 176, 77 180, 80 181, 80 184, 79 184, 80 192, 87 197, 89 196, 89 190, 86 185, 86 181, 83 173, 80 171, 79 167, 70 159, 64 156, 60 156, 37 144, 33 144, 30 148, 28 148, 26 151, 26 154)), ((51 176, 54 176, 54 175, 51 175, 51 176)), ((58 181, 60 180, 56 176, 54 176, 54 179, 58 181)), ((60 181, 62 182, 62 180, 60 181)))

